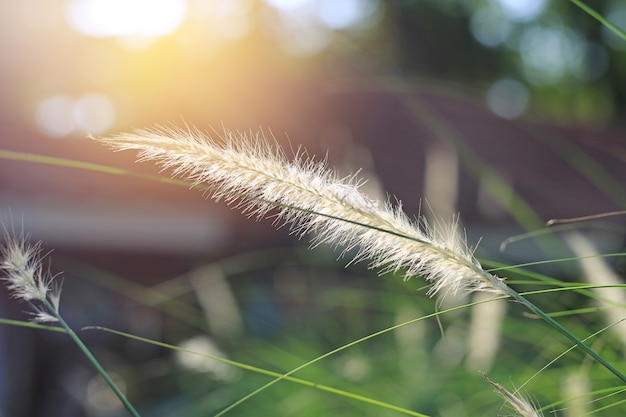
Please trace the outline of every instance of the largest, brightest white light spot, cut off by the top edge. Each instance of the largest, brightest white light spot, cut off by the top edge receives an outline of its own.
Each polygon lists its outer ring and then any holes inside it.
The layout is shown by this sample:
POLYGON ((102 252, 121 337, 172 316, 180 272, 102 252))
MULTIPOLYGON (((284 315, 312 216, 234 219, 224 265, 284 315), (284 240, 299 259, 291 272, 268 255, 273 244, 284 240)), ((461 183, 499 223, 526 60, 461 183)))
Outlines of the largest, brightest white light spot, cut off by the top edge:
POLYGON ((185 0, 73 0, 70 24, 95 37, 159 37, 174 32, 187 9, 185 0))

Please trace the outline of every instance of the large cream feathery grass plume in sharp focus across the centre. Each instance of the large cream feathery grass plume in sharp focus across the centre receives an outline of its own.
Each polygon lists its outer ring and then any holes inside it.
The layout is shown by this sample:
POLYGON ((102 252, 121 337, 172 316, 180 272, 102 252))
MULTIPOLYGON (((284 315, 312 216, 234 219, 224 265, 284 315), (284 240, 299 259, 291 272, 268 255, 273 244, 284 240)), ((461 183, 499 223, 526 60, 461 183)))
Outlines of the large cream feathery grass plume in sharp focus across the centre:
POLYGON ((157 127, 96 138, 116 150, 138 150, 139 160, 156 160, 173 174, 208 185, 212 197, 264 217, 276 209, 277 222, 297 235, 312 234, 313 246, 331 243, 353 260, 369 260, 382 272, 404 270, 406 278, 423 276, 429 294, 489 291, 508 295, 501 278, 483 270, 458 232, 458 218, 432 228, 412 221, 389 202, 359 191, 356 176, 339 178, 325 162, 298 152, 288 159, 261 133, 225 130, 219 138, 187 128, 157 127))

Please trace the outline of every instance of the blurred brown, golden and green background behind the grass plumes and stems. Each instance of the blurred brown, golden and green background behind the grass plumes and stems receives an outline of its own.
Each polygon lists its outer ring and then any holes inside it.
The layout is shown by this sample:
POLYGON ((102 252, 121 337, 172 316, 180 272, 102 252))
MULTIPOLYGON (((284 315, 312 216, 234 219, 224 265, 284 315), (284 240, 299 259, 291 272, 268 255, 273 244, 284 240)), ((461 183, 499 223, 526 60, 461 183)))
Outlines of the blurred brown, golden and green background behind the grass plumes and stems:
MULTIPOLYGON (((594 7, 626 29, 624 2, 594 7)), ((76 329, 108 326, 286 372, 436 309, 419 280, 344 270, 332 248, 308 251, 271 220, 155 180, 167 173, 88 139, 155 124, 261 130, 288 153, 360 170, 367 194, 401 200, 410 216, 460 213, 486 265, 624 247, 621 216, 500 248, 551 218, 626 209, 626 41, 571 2, 5 1, 0 51, 3 221, 54 250, 61 312, 76 329)), ((602 276, 623 282, 615 259, 602 276)), ((598 275, 575 262, 538 271, 598 275)), ((27 306, 1 292, 0 315, 25 320, 27 306)), ((561 311, 599 301, 538 302, 561 311)), ((516 306, 504 316, 505 305, 488 305, 491 321, 446 314, 442 332, 434 319, 406 326, 298 376, 421 413, 495 415, 501 401, 478 370, 521 385, 567 344, 532 320, 535 333, 520 330, 529 320, 516 306)), ((617 319, 570 325, 589 334, 617 319)), ((212 415, 269 381, 80 335, 145 415, 212 415)), ((2 415, 126 415, 63 335, 4 326, 0 341, 2 415)), ((574 396, 581 385, 559 375, 527 388, 544 404, 574 396)), ((231 413, 322 414, 399 415, 285 381, 231 413)))

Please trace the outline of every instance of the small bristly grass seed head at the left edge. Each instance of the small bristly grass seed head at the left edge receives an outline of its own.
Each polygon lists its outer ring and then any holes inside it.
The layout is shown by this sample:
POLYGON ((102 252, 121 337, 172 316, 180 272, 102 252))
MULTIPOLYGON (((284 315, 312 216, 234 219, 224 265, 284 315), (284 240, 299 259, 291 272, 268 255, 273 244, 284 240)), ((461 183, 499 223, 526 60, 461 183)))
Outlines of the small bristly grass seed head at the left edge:
POLYGON ((41 242, 29 243, 23 232, 12 236, 5 230, 5 245, 0 250, 0 270, 14 298, 31 304, 35 322, 57 322, 61 287, 42 265, 41 242))

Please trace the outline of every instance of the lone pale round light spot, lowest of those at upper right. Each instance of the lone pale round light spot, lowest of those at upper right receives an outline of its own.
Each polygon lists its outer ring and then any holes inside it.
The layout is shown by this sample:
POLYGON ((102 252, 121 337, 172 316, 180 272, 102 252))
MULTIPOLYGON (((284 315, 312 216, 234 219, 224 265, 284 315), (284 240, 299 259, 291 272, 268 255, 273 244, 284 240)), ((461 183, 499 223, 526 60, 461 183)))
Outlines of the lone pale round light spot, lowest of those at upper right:
POLYGON ((508 78, 496 81, 487 91, 487 106, 505 119, 521 116, 528 107, 529 99, 526 86, 508 78))

